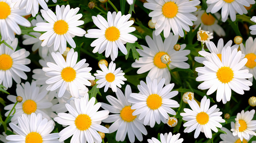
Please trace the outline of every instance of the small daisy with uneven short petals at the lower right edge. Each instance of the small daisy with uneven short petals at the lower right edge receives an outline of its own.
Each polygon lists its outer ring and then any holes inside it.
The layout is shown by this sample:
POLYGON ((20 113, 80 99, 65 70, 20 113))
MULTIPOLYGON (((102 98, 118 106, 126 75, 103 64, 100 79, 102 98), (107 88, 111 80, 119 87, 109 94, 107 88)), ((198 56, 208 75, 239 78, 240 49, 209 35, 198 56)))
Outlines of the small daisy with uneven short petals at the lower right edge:
POLYGON ((236 123, 231 122, 231 126, 234 127, 231 129, 233 135, 238 135, 241 141, 243 141, 244 138, 248 140, 249 135, 256 136, 256 120, 252 120, 254 114, 254 109, 246 112, 242 110, 241 113, 237 113, 235 118, 236 123))

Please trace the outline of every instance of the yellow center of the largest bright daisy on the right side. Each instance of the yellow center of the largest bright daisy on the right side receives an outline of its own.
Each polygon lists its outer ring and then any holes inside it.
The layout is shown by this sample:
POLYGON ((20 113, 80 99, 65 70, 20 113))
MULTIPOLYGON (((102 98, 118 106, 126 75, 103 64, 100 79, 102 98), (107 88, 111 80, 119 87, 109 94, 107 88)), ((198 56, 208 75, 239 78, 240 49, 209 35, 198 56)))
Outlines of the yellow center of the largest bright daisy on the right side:
POLYGON ((222 83, 228 83, 233 79, 234 73, 229 67, 221 67, 216 72, 216 75, 219 81, 221 81, 222 83))

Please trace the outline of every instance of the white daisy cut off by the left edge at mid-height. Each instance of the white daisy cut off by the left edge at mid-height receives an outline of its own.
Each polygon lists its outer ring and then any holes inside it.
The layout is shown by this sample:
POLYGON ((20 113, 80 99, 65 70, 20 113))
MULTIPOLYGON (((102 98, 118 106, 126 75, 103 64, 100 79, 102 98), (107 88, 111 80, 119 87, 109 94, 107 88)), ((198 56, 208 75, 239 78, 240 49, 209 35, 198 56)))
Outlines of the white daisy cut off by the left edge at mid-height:
POLYGON ((16 51, 18 45, 17 38, 13 42, 10 40, 6 42, 11 45, 13 50, 5 44, 0 45, 0 84, 3 84, 6 88, 10 88, 12 86, 12 79, 17 84, 20 84, 20 78, 27 80, 28 77, 24 71, 29 72, 30 68, 25 65, 30 64, 31 61, 26 58, 30 54, 28 51, 25 49, 16 51))

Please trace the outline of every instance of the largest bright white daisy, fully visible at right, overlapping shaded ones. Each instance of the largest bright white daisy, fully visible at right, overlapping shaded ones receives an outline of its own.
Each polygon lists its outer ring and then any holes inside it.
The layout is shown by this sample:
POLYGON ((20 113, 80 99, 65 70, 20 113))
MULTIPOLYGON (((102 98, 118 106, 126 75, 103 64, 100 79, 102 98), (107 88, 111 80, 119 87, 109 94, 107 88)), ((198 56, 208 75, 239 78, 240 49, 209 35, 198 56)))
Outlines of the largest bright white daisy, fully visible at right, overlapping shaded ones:
POLYGON ((241 51, 237 52, 236 48, 231 51, 229 46, 222 49, 222 60, 215 53, 206 56, 207 61, 203 61, 205 66, 196 68, 199 72, 196 81, 204 81, 198 88, 209 89, 207 95, 217 90, 216 100, 222 100, 224 104, 230 101, 231 89, 238 94, 250 90, 252 83, 246 78, 251 78, 252 74, 247 69, 241 70, 247 62, 247 58, 240 60, 241 56, 241 51))

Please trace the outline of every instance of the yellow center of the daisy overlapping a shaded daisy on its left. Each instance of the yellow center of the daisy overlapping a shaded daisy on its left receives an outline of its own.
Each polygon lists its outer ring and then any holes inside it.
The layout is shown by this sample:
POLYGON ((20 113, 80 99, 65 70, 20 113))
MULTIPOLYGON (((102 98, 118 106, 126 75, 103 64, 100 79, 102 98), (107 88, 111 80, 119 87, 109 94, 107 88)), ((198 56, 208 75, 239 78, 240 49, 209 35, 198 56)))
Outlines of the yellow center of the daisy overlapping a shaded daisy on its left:
POLYGON ((162 105, 162 98, 158 94, 151 94, 147 98, 147 105, 150 109, 158 109, 162 105))

